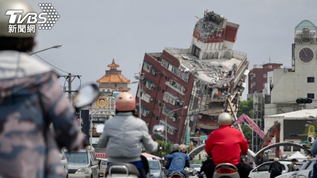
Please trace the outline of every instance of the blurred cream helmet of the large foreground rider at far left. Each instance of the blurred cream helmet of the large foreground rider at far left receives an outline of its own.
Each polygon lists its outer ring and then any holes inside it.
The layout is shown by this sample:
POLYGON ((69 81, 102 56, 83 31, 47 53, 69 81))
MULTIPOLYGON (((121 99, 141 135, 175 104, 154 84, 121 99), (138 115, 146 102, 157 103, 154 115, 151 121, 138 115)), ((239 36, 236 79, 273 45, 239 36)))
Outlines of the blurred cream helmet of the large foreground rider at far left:
MULTIPOLYGON (((9 33, 9 19, 10 15, 5 15, 7 10, 23 10, 22 13, 15 13, 17 15, 16 18, 21 14, 22 18, 28 12, 34 12, 29 4, 21 1, 21 0, 0 0, 0 37, 16 37, 16 38, 31 38, 34 37, 35 33, 9 33)), ((27 20, 24 20, 21 25, 28 25, 27 20)), ((18 25, 12 23, 11 25, 18 25)))

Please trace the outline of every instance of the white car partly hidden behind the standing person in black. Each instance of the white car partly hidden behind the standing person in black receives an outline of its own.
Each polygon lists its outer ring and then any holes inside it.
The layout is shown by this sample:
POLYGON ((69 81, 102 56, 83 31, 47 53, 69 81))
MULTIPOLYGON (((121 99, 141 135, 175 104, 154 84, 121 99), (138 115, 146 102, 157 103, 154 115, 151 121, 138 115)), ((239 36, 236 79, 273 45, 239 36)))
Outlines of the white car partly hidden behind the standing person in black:
MULTIPOLYGON (((270 173, 268 172, 268 168, 270 167, 272 162, 265 162, 262 163, 261 165, 257 166, 256 168, 252 169, 249 178, 268 178, 270 177, 270 173)), ((282 174, 287 173, 288 171, 288 166, 291 162, 289 161, 280 161, 282 165, 282 174)), ((301 163, 296 163, 295 168, 300 169, 302 166, 301 163)))

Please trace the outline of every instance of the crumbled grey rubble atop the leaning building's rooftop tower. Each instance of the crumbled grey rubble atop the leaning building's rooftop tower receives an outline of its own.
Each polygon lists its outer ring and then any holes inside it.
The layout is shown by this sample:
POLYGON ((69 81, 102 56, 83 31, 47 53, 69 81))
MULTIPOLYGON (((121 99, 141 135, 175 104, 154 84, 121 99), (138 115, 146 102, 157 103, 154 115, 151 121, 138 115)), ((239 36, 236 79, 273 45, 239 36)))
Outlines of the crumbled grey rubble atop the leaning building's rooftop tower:
POLYGON ((207 41, 208 39, 221 38, 224 17, 212 12, 206 12, 204 17, 196 23, 196 29, 199 31, 199 39, 207 41))

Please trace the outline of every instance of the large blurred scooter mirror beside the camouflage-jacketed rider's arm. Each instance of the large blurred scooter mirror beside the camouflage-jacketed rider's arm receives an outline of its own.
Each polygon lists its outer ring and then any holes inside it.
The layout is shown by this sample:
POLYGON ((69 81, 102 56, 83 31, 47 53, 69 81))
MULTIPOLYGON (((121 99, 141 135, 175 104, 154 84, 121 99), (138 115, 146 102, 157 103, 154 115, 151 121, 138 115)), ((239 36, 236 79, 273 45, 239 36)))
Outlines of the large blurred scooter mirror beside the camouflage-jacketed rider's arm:
POLYGON ((81 108, 90 105, 99 95, 98 86, 96 84, 88 84, 82 86, 74 96, 74 106, 81 108))

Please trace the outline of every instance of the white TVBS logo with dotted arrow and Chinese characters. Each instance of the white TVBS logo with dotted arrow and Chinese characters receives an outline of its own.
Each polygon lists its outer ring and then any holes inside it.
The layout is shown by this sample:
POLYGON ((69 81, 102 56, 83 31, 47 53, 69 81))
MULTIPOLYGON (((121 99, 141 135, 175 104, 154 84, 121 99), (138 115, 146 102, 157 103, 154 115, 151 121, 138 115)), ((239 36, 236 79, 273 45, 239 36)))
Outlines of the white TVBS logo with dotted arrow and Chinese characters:
POLYGON ((35 24, 41 24, 39 29, 52 29, 60 16, 51 3, 40 3, 39 6, 43 12, 28 12, 25 16, 22 15, 23 10, 7 10, 5 15, 10 16, 8 32, 35 33, 35 24))

